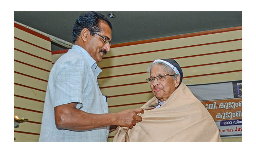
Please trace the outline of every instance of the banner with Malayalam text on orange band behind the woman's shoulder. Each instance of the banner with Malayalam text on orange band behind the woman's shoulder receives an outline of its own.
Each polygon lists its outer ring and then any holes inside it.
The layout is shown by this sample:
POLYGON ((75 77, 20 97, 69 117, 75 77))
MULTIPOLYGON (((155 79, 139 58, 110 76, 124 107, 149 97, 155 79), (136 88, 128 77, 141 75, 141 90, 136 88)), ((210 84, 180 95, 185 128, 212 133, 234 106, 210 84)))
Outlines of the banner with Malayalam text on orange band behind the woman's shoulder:
POLYGON ((242 80, 187 86, 212 115, 220 137, 242 136, 242 80))

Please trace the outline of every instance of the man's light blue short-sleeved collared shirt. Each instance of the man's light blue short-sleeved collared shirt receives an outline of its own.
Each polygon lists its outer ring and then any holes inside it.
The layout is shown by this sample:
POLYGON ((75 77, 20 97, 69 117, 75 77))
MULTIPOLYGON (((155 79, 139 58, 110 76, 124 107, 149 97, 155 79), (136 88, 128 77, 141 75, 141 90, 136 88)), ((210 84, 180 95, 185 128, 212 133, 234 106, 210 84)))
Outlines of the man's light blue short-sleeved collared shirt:
MULTIPOLYGON (((106 97, 97 82, 101 69, 89 53, 73 45, 50 72, 39 141, 107 141, 109 126, 82 132, 57 129, 54 107, 72 102, 76 108, 93 114, 108 113, 106 97)), ((85 118, 86 120, 86 118, 85 118)))

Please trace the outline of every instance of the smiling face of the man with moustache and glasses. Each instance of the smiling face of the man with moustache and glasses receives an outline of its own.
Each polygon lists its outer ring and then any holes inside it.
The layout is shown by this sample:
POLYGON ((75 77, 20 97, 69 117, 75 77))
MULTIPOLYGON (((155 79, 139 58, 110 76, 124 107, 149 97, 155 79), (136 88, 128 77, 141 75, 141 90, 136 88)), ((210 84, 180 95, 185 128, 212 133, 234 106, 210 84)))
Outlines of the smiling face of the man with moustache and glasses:
MULTIPOLYGON (((102 29, 101 32, 97 32, 111 41, 111 29, 108 24, 104 21, 99 23, 99 27, 102 29)), ((101 62, 103 56, 110 51, 110 43, 103 44, 104 39, 97 34, 89 35, 90 39, 88 39, 87 43, 87 52, 91 55, 91 57, 96 61, 96 63, 101 62)))

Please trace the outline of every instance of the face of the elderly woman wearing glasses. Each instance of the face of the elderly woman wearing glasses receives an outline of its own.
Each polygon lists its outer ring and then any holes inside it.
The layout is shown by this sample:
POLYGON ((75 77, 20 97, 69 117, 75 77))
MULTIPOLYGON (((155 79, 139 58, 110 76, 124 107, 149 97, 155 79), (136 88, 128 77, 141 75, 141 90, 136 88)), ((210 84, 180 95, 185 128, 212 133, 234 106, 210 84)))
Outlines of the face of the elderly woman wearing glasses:
MULTIPOLYGON (((155 65, 150 70, 150 78, 156 77, 158 75, 162 74, 170 74, 167 73, 163 66, 161 65, 155 65)), ((173 79, 172 76, 166 75, 166 79, 164 81, 158 81, 156 78, 152 84, 150 84, 151 90, 153 94, 158 98, 161 102, 166 101, 167 98, 169 98, 174 92, 174 90, 177 89, 177 86, 180 83, 180 76, 176 79, 173 79)))

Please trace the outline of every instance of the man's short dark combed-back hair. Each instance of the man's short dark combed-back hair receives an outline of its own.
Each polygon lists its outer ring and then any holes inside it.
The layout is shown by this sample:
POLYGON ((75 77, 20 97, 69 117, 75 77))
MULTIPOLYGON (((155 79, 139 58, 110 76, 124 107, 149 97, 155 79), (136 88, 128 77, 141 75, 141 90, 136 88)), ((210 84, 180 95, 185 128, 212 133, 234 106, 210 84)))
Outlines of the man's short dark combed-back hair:
POLYGON ((100 21, 105 21, 110 29, 112 30, 112 23, 107 17, 98 12, 88 12, 82 14, 76 19, 75 25, 73 27, 72 38, 73 42, 77 40, 78 36, 81 34, 82 29, 87 28, 91 35, 94 35, 94 32, 100 32, 102 29, 99 27, 100 21))

